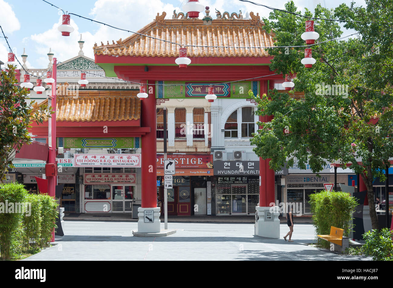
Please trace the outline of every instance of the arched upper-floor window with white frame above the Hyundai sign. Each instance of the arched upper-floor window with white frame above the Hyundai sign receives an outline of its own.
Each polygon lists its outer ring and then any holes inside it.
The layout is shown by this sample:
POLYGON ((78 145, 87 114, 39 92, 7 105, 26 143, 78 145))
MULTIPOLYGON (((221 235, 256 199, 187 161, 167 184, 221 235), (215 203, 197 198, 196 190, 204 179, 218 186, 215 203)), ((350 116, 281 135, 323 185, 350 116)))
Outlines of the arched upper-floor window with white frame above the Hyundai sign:
POLYGON ((224 126, 225 138, 251 138, 255 132, 255 107, 242 107, 232 112, 224 126))

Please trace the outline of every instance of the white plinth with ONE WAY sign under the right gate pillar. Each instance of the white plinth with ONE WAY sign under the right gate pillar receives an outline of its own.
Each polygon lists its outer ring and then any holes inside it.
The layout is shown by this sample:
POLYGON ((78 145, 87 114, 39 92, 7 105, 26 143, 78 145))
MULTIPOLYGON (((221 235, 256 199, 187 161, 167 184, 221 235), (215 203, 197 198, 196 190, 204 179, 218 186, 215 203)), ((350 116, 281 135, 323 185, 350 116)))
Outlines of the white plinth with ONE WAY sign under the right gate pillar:
POLYGON ((255 235, 261 237, 269 238, 280 238, 280 219, 278 216, 279 207, 269 206, 269 207, 259 207, 256 206, 255 209, 255 235), (272 212, 273 220, 268 219, 265 221, 265 211, 272 212))

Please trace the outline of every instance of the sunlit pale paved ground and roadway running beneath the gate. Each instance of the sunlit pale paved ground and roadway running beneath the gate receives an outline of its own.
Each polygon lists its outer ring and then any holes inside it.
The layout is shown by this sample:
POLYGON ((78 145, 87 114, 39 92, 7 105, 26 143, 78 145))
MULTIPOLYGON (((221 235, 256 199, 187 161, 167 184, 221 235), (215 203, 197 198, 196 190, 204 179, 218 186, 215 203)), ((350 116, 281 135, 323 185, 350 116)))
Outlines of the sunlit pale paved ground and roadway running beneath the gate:
MULTIPOLYGON (((371 260, 319 249, 311 224, 295 224, 292 240, 254 236, 247 223, 168 223, 167 237, 135 237, 136 222, 65 221, 56 245, 24 260, 371 260)), ((162 229, 164 224, 161 223, 162 229)))

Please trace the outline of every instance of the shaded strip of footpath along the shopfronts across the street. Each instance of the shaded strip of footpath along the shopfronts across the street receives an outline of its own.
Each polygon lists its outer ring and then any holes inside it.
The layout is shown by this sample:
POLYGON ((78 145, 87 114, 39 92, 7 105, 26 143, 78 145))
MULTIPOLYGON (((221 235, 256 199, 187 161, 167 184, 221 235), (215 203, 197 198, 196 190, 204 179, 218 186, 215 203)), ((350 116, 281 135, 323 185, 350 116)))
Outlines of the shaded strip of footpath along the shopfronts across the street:
MULTIPOLYGON (((63 220, 68 221, 121 221, 137 222, 132 219, 130 213, 64 213, 63 220)), ((286 223, 285 216, 280 216, 280 222, 286 223)), ((160 216, 163 222, 164 216, 160 216)), ((193 222, 193 223, 255 223, 255 215, 234 215, 234 216, 214 216, 214 215, 192 215, 192 216, 168 216, 168 222, 193 222)), ((296 223, 312 223, 310 215, 294 217, 296 223)))

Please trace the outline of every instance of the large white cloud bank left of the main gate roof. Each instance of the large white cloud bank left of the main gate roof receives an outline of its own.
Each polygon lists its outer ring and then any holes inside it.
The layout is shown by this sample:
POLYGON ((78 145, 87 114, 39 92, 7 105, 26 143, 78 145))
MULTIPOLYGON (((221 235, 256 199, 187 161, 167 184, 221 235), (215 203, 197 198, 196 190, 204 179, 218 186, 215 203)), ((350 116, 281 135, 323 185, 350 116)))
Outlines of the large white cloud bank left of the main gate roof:
MULTIPOLYGON (((162 11, 166 11, 166 18, 171 18, 175 8, 172 4, 164 4, 160 0, 151 0, 149 2, 98 0, 91 10, 90 18, 119 28, 137 31, 149 24, 158 12, 161 15, 162 11)), ((61 17, 59 17, 56 24, 53 24, 51 29, 40 34, 31 35, 30 39, 35 43, 30 45, 29 49, 34 49, 40 56, 35 61, 39 67, 34 68, 45 68, 48 65, 46 53, 48 53, 49 48, 54 53, 53 57, 57 57, 59 61, 65 61, 77 56, 79 52, 77 41, 79 41, 80 33, 82 33, 82 38, 85 41, 83 46, 84 55, 93 59, 95 42, 97 42, 97 45, 101 45, 101 41, 104 44, 107 44, 107 41, 109 41, 111 44, 112 40, 114 40, 116 43, 116 40, 120 38, 125 39, 132 34, 101 24, 97 24, 98 29, 96 31, 85 31, 83 24, 87 21, 71 15, 70 24, 75 30, 68 37, 61 36, 61 33, 57 30, 57 27, 61 24, 61 17)), ((26 51, 26 53, 29 53, 29 51, 26 51)))

